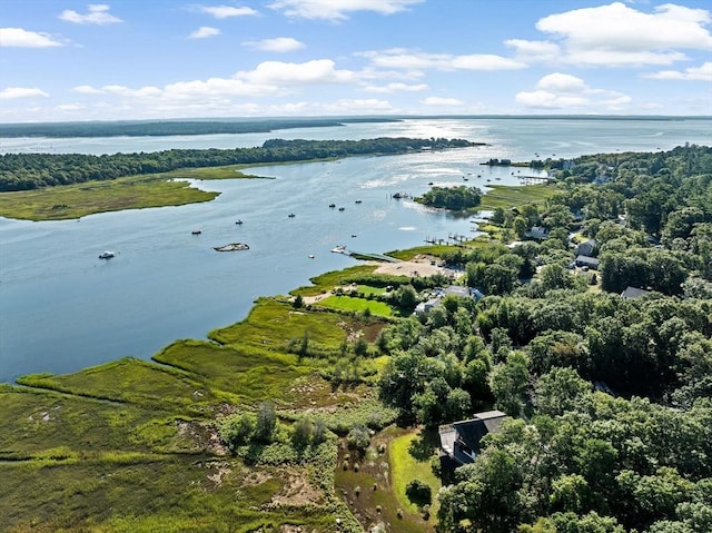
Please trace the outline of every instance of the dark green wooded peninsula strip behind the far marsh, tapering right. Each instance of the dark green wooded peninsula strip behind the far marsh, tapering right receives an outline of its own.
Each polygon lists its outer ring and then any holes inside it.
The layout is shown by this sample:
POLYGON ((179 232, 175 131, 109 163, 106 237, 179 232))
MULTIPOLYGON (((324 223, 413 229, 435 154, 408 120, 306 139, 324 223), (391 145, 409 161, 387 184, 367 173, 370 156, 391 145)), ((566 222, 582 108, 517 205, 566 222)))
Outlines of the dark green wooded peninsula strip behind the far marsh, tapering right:
POLYGON ((156 152, 88 156, 80 154, 6 154, 0 156, 0 191, 30 190, 56 185, 108 180, 123 176, 167 172, 178 168, 257 165, 393 155, 432 148, 462 148, 463 139, 387 138, 363 140, 267 140, 261 147, 230 150, 164 150, 156 152))

